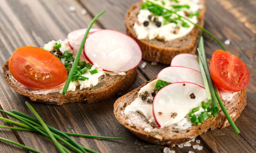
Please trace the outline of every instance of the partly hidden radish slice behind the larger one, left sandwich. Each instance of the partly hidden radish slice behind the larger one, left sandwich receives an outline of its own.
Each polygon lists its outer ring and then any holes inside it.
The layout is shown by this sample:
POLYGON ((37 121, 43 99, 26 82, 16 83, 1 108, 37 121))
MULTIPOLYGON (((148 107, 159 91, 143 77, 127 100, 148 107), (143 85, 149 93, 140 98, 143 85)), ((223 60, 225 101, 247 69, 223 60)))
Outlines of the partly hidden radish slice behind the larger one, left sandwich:
MULTIPOLYGON (((78 37, 80 37, 81 35, 84 35, 86 33, 86 30, 87 29, 79 29, 79 30, 72 31, 68 34, 67 38, 68 38, 69 46, 71 47, 71 49, 73 49, 73 46, 76 40, 78 39, 78 37)), ((98 30, 100 29, 90 29, 90 32, 94 32, 98 30)))

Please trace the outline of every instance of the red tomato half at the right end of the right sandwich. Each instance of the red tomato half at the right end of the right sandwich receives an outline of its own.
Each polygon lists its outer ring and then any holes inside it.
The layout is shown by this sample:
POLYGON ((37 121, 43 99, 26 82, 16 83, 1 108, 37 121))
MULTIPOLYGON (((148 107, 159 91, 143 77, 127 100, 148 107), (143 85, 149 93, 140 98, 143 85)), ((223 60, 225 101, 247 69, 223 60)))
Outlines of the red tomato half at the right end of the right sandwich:
POLYGON ((245 63, 223 50, 212 54, 210 75, 218 88, 229 92, 240 91, 250 82, 250 72, 245 63))

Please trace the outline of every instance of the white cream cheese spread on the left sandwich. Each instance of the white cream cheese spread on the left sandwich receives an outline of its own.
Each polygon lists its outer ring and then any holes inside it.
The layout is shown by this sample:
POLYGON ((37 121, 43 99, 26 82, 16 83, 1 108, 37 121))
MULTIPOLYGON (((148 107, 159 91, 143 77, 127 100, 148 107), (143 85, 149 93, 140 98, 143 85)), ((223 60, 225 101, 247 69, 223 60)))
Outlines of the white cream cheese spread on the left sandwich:
MULTIPOLYGON (((69 42, 67 39, 65 39, 63 41, 62 40, 57 40, 57 41, 52 40, 52 41, 48 42, 47 44, 45 44, 43 47, 48 52, 51 52, 53 50, 54 45, 56 45, 56 43, 61 44, 61 47, 59 48, 61 53, 64 53, 66 50, 69 53, 72 53, 72 49, 70 48, 69 42)), ((88 61, 87 61, 87 63, 88 63, 88 61)), ((85 80, 85 81, 76 80, 74 82, 70 82, 68 91, 75 91, 77 86, 79 86, 80 90, 83 88, 93 87, 98 84, 99 77, 101 77, 102 75, 125 75, 125 72, 114 73, 114 72, 103 71, 101 68, 99 68, 99 66, 97 64, 94 64, 91 67, 91 69, 89 69, 89 70, 82 74, 83 77, 87 77, 89 79, 85 80), (89 72, 89 70, 93 70, 93 69, 97 69, 98 73, 91 74, 89 72)), ((53 88, 53 89, 46 89, 46 90, 31 89, 30 91, 33 94, 45 94, 45 95, 48 93, 53 93, 53 92, 62 93, 64 85, 65 85, 65 83, 63 83, 60 86, 53 88)))

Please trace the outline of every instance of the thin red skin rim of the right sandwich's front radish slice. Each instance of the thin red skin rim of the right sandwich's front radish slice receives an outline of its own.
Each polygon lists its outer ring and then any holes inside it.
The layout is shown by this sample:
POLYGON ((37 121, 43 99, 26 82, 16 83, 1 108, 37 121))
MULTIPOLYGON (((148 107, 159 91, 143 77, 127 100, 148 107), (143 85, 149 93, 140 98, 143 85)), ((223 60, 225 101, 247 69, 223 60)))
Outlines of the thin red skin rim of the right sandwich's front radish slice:
MULTIPOLYGON (((161 125, 160 123, 159 123, 159 121, 158 121, 158 119, 157 119, 157 115, 156 115, 156 113, 157 112, 155 112, 155 107, 156 107, 156 99, 158 99, 157 98, 157 96, 159 96, 160 94, 161 94, 161 91, 164 91, 164 90, 168 90, 168 88, 170 87, 170 86, 173 86, 173 85, 175 85, 175 84, 181 84, 181 85, 183 85, 183 84, 193 84, 193 85, 196 85, 195 87, 200 87, 200 88, 202 88, 202 89, 204 89, 205 90, 205 88, 204 87, 202 87, 202 86, 200 86, 200 85, 197 85, 197 84, 194 84, 194 83, 190 83, 190 82, 177 82, 177 83, 172 83, 172 84, 169 84, 169 85, 167 85, 167 86, 165 86, 165 87, 163 87, 161 90, 159 90, 158 92, 157 92, 157 94, 156 94, 156 96, 155 96, 155 98, 154 98, 154 100, 153 100, 153 107, 152 107, 152 111, 153 111, 153 117, 154 117, 154 119, 155 119, 155 121, 156 121, 156 123, 157 123, 157 125, 159 126, 159 127, 162 127, 163 125, 161 125)), ((203 98, 207 98, 206 97, 206 93, 205 93, 205 95, 204 95, 204 97, 203 98)), ((200 103, 201 103, 201 101, 200 101, 200 103)), ((193 108, 191 108, 191 109, 193 109, 193 108)), ((188 112, 189 113, 189 112, 188 112)), ((166 123, 166 122, 165 122, 166 123)))

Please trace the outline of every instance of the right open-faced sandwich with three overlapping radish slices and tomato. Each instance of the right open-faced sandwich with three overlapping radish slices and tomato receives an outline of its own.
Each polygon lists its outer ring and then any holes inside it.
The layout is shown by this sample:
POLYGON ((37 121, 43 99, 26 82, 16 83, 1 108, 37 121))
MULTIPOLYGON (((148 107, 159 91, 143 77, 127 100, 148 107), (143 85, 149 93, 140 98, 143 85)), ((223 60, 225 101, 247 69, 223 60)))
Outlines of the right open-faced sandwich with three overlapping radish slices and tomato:
MULTIPOLYGON (((207 63, 206 66, 208 69, 207 63)), ((238 57, 217 50, 209 71, 218 88, 213 84, 213 92, 207 92, 207 79, 203 77, 206 70, 202 70, 197 57, 180 54, 157 78, 118 98, 114 114, 134 135, 161 145, 183 144, 229 123, 238 134, 233 121, 246 105, 249 70, 238 57)))

